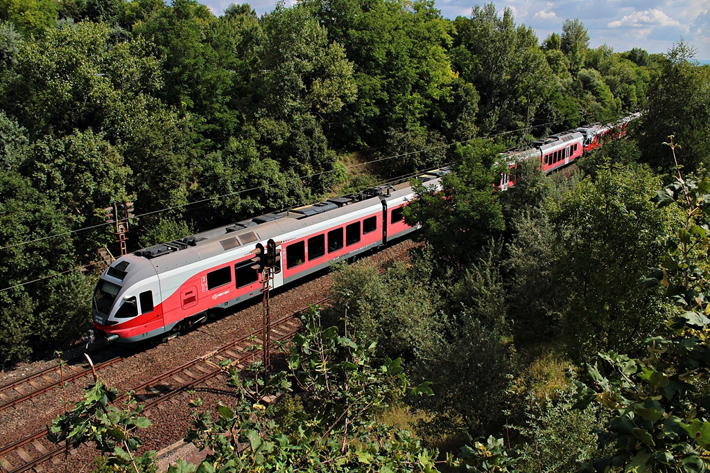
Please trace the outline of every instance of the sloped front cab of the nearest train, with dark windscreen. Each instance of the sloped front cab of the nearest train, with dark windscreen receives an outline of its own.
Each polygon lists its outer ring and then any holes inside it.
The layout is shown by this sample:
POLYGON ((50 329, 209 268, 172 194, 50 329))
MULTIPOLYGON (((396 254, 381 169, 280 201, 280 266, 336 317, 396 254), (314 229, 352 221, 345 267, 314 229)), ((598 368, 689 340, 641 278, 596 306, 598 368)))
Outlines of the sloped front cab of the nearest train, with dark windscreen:
POLYGON ((163 333, 160 285, 146 258, 126 255, 114 261, 94 289, 94 335, 109 342, 133 343, 163 333))

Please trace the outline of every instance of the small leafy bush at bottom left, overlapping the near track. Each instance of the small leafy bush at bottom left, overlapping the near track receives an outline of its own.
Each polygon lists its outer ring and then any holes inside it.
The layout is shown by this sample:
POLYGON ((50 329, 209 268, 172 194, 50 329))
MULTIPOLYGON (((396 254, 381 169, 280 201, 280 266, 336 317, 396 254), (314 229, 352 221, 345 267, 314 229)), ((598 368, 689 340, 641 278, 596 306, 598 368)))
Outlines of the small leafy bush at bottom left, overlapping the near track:
POLYGON ((137 430, 148 427, 151 421, 140 416, 143 406, 133 407, 130 396, 123 409, 111 406, 118 395, 118 390, 94 377, 94 384, 84 389, 84 400, 57 416, 47 428, 47 437, 53 443, 66 442, 69 447, 93 443, 99 452, 109 454, 107 464, 118 471, 154 472, 155 451, 135 455, 141 446, 137 430))

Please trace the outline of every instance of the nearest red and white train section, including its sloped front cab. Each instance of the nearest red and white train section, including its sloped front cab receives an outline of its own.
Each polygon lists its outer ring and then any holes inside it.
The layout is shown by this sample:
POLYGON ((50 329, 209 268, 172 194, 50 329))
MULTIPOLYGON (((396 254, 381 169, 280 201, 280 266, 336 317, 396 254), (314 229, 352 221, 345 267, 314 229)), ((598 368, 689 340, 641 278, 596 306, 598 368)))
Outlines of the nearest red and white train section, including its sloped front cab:
MULTIPOLYGON (((448 169, 417 176, 437 188, 448 169)), ((409 182, 368 189, 154 245, 111 263, 94 289, 94 333, 133 343, 202 321, 212 308, 261 295, 262 274, 253 269, 257 243, 282 243, 282 270, 273 288, 332 262, 410 233, 403 207, 415 197, 409 182)))

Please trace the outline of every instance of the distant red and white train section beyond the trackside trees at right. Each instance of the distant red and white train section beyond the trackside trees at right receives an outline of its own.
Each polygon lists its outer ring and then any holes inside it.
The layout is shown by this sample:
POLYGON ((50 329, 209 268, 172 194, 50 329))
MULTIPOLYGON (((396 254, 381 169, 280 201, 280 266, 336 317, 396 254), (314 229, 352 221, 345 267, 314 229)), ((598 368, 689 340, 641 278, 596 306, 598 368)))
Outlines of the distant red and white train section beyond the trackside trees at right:
POLYGON ((538 160, 542 172, 550 173, 569 165, 585 152, 596 150, 608 141, 626 135, 628 123, 640 118, 641 113, 631 113, 614 123, 594 123, 580 126, 574 130, 550 135, 542 140, 533 141, 524 148, 513 148, 501 154, 501 162, 508 167, 498 178, 496 187, 506 190, 515 186, 520 179, 520 162, 538 160))

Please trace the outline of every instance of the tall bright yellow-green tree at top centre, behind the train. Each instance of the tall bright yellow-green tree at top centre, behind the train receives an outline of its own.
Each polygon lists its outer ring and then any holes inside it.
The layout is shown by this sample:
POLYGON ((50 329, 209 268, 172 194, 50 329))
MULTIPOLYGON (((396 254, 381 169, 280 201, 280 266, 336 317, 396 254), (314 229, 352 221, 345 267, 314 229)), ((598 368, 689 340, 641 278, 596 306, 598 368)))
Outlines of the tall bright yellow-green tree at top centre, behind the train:
POLYGON ((338 146, 386 145, 388 130, 426 137, 437 129, 442 111, 457 108, 449 89, 455 75, 447 56, 451 27, 433 1, 307 0, 302 5, 354 65, 356 101, 326 128, 338 146))

